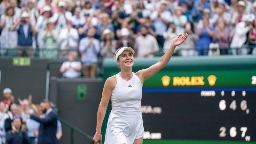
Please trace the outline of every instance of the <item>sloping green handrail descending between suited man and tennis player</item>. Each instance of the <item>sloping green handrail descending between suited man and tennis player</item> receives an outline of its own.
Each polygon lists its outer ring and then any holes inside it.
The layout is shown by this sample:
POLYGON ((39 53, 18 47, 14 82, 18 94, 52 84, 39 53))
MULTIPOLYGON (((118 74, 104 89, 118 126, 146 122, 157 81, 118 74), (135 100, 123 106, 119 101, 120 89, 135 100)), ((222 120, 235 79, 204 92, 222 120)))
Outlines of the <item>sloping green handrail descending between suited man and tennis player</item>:
MULTIPOLYGON (((64 119, 62 119, 62 118, 58 118, 58 119, 59 119, 59 121, 60 121, 62 124, 64 124, 64 125, 70 127, 70 144, 74 144, 74 131, 76 131, 77 133, 81 134, 81 135, 82 135, 83 137, 85 137, 85 138, 89 138, 89 139, 92 141, 92 144, 94 144, 94 141, 93 141, 93 137, 92 137, 92 136, 86 134, 86 133, 83 132, 81 129, 79 129, 79 128, 73 126, 73 125, 71 125, 69 122, 65 121, 64 119)), ((103 144, 103 143, 102 143, 102 144, 103 144)))

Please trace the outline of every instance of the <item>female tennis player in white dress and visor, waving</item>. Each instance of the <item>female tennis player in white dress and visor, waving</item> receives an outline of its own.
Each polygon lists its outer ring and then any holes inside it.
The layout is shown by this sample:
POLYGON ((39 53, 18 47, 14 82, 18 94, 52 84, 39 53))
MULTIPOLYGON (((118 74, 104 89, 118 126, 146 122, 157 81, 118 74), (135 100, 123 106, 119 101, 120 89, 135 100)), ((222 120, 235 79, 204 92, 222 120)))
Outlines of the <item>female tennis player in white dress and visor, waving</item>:
POLYGON ((105 82, 97 113, 96 134, 93 138, 95 144, 102 143, 101 126, 109 99, 112 102, 112 110, 109 114, 105 144, 142 144, 144 133, 141 113, 143 82, 167 65, 175 47, 182 44, 187 35, 178 35, 158 63, 136 73, 132 70, 134 50, 130 47, 117 50, 116 61, 121 71, 109 77, 105 82))

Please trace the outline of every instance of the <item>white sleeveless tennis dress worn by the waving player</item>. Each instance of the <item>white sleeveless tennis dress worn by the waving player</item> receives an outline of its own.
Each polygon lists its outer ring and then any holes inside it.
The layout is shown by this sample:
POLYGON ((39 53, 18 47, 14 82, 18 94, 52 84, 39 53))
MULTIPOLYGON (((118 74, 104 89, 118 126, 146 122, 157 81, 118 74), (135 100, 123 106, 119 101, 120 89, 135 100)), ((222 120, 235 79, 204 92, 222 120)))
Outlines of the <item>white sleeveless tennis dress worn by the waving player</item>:
POLYGON ((135 139, 143 138, 141 97, 142 84, 135 73, 130 80, 124 80, 119 73, 116 74, 105 144, 133 144, 135 139))

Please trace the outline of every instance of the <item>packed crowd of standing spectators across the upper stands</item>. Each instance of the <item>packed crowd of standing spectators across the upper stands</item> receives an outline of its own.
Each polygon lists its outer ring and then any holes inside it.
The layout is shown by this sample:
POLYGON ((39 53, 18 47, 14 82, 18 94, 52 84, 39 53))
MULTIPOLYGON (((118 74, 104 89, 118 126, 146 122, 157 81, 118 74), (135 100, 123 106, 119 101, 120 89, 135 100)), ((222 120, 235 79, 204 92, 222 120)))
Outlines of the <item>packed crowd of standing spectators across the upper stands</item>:
POLYGON ((208 55, 214 48, 256 54, 255 14, 255 0, 2 0, 1 52, 67 58, 74 51, 88 70, 122 46, 152 57, 188 33, 174 55, 208 55))

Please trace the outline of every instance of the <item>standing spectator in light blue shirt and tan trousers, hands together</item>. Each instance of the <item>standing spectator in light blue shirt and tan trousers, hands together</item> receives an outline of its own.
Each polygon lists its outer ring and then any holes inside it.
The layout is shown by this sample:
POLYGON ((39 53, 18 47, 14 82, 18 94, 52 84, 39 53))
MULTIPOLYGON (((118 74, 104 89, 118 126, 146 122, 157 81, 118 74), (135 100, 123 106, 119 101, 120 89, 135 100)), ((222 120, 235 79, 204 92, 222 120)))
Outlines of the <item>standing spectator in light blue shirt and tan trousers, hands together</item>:
POLYGON ((87 37, 79 42, 79 51, 82 53, 83 73, 85 77, 95 78, 96 67, 98 62, 98 53, 100 52, 99 40, 94 38, 95 28, 90 28, 87 37))

